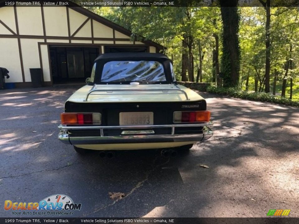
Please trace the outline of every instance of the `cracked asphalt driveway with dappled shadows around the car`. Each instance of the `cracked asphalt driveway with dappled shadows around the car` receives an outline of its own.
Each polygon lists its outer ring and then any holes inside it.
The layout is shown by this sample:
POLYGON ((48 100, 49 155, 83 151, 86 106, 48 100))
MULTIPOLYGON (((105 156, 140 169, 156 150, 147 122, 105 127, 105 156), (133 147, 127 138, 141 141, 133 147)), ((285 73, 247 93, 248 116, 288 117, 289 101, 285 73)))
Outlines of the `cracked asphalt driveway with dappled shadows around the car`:
POLYGON ((0 217, 12 217, 4 200, 53 194, 82 203, 74 217, 266 217, 269 209, 299 217, 298 108, 201 93, 215 123, 208 141, 171 159, 159 150, 107 159, 57 140, 76 89, 0 91, 0 217), (108 192, 126 196, 112 201, 108 192))

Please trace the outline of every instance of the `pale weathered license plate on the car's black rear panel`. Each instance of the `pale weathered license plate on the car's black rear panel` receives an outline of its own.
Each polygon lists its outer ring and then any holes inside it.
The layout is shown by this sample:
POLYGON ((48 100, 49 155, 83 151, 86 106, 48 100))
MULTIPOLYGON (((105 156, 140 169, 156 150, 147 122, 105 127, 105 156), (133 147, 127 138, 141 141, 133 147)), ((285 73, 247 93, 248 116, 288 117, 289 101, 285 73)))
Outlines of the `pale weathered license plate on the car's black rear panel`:
POLYGON ((121 112, 119 113, 119 125, 153 125, 153 112, 121 112))

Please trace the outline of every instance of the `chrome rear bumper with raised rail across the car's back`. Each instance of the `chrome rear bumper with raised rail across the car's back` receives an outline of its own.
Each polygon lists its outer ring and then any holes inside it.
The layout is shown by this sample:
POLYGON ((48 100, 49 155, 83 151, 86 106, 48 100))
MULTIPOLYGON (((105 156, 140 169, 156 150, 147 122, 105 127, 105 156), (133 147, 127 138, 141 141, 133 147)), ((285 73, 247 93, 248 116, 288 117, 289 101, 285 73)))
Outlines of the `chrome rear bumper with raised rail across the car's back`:
MULTIPOLYGON (((201 122, 196 124, 166 124, 166 125, 136 125, 136 126, 64 126, 59 125, 60 133, 58 139, 65 144, 71 145, 89 145, 89 144, 115 144, 115 143, 150 143, 150 142, 202 142, 212 137, 211 130, 213 123, 201 122), (175 128, 178 127, 204 127, 202 133, 196 134, 175 134, 175 128), (154 135, 144 134, 145 130, 151 128, 171 128, 171 134, 154 135), (74 137, 71 130, 98 129, 100 136, 82 136, 74 137), (120 136, 104 136, 104 129, 126 129, 140 130, 141 134, 120 135, 120 136)), ((96 131, 98 131, 96 130, 96 131)), ((123 132, 126 133, 126 132, 123 132)))

